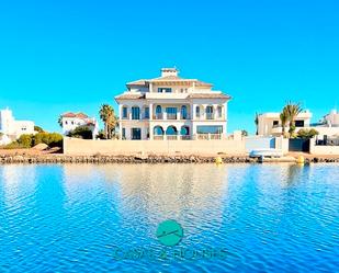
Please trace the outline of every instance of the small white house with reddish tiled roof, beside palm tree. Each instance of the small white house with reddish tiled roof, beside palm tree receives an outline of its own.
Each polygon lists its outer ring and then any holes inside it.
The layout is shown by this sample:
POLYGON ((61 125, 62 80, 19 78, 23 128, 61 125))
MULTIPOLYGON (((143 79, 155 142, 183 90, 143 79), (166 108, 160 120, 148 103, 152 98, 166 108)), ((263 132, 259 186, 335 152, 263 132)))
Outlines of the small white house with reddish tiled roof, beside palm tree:
POLYGON ((99 133, 98 122, 94 117, 89 117, 83 113, 67 112, 61 115, 63 134, 68 135, 71 130, 79 126, 87 126, 91 132, 93 138, 99 133))

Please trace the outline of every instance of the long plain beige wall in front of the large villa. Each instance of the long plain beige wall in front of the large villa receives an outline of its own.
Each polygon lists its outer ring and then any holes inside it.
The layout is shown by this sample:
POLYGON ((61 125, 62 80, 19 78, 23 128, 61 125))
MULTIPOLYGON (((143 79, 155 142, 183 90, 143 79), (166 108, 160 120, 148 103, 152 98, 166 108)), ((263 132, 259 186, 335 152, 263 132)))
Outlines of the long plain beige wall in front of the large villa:
POLYGON ((64 138, 65 155, 246 155, 244 139, 87 140, 64 138))

